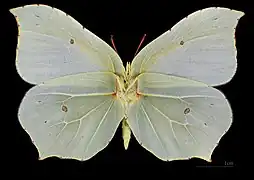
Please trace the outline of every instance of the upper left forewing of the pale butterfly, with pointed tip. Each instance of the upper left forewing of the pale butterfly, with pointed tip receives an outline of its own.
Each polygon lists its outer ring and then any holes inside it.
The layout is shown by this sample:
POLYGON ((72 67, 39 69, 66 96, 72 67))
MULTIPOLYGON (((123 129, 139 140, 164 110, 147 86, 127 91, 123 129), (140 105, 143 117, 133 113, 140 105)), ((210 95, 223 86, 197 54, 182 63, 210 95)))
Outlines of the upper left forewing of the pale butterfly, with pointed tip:
POLYGON ((46 5, 10 12, 19 27, 16 68, 25 81, 39 84, 83 72, 124 74, 117 53, 66 13, 46 5))

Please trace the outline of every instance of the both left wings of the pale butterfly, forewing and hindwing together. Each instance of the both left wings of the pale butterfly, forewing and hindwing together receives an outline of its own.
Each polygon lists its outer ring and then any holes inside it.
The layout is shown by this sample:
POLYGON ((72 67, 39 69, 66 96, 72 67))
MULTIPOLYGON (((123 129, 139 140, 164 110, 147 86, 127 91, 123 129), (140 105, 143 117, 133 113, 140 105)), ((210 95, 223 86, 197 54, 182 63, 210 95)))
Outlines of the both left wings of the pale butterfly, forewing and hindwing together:
POLYGON ((18 112, 39 151, 86 160, 107 146, 124 110, 114 93, 124 67, 114 50, 64 12, 10 10, 19 25, 16 67, 32 84, 18 112))

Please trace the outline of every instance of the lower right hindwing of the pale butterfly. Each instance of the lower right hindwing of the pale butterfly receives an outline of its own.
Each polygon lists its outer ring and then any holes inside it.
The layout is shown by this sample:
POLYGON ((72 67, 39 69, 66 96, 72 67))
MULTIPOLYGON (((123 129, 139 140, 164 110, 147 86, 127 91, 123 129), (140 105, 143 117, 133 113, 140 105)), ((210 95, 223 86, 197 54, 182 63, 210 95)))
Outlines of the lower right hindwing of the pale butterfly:
POLYGON ((225 96, 204 83, 144 73, 138 77, 138 94, 127 122, 138 142, 162 160, 210 161, 232 123, 225 96))

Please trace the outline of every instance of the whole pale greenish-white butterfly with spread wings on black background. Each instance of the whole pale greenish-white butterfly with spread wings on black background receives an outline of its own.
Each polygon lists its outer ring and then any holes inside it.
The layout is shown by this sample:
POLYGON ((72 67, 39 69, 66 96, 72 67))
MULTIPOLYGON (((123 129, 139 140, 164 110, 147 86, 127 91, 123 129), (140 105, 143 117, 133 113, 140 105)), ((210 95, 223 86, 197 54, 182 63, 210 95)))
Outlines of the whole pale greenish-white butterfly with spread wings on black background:
POLYGON ((116 51, 71 16, 46 5, 11 9, 19 35, 16 68, 34 86, 18 118, 39 151, 88 160, 120 123, 161 160, 211 160, 232 110, 214 86, 237 69, 234 33, 243 12, 205 8, 146 45, 124 67, 116 51))

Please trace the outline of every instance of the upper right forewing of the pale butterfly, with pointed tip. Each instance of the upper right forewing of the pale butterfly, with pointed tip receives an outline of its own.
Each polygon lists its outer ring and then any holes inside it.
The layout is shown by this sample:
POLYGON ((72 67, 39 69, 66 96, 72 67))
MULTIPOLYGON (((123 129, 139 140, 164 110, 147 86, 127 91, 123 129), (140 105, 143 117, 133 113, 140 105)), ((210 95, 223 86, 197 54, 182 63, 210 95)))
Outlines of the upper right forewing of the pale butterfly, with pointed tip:
POLYGON ((243 15, 226 8, 190 14, 137 54, 131 75, 158 72, 212 86, 225 84, 237 68, 234 34, 243 15))

